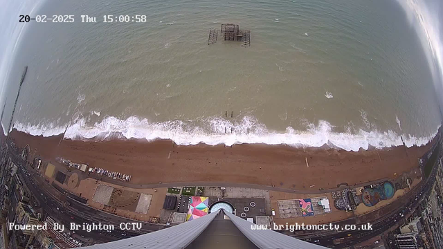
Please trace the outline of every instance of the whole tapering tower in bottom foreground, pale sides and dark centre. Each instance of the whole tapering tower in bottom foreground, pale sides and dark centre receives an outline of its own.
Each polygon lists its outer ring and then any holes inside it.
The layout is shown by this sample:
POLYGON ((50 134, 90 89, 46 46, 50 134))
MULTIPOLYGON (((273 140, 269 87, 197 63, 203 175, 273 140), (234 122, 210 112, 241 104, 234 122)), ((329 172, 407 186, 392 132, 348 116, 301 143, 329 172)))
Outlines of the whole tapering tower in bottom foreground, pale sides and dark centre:
POLYGON ((218 210, 170 228, 87 248, 324 248, 272 230, 253 230, 251 225, 234 214, 218 210))

